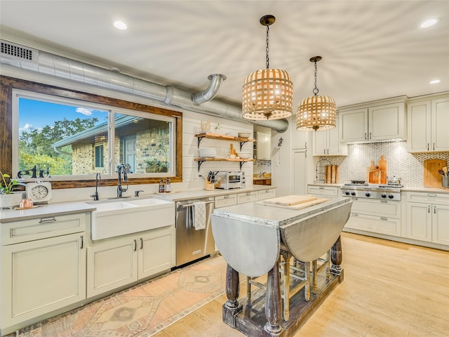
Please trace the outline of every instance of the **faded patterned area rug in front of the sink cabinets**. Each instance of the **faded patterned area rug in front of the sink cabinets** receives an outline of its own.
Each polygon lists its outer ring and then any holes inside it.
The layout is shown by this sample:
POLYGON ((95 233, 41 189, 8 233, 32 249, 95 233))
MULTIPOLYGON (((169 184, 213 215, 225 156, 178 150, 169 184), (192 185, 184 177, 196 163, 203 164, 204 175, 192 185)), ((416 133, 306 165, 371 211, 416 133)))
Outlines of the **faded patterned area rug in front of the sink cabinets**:
POLYGON ((225 259, 213 256, 28 326, 18 336, 152 336, 225 293, 225 283, 225 259))

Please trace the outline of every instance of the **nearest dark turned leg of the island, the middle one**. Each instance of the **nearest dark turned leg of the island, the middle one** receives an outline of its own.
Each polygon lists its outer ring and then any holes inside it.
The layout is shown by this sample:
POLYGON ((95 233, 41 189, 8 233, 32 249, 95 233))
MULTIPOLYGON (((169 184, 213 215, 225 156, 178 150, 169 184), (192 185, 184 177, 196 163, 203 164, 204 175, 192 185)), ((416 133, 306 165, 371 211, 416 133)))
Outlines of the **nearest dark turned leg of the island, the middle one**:
POLYGON ((267 296, 265 297, 265 317, 267 324, 264 329, 268 333, 279 333, 282 331, 282 298, 281 282, 279 279, 279 260, 268 272, 267 296))

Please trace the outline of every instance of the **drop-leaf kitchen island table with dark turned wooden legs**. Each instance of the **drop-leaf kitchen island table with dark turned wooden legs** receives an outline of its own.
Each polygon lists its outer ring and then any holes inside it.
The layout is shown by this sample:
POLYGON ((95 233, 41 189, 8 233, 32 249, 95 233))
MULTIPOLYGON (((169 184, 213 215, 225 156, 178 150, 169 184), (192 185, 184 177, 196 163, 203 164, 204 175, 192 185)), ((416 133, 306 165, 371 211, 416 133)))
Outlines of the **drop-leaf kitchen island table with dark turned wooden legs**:
MULTIPOLYGON (((304 209, 268 206, 263 201, 215 209, 213 235, 227 261, 223 322, 247 336, 293 336, 342 282, 340 233, 349 218, 351 204, 349 198, 335 197, 304 209), (283 301, 280 255, 309 263, 329 250, 332 267, 327 277, 321 277, 309 300, 305 299, 305 289, 295 293, 290 301, 283 301), (239 273, 246 277, 267 274, 265 291, 258 289, 239 300, 239 273), (290 308, 282 308, 283 303, 290 308)), ((289 270, 285 263, 283 270, 284 275, 289 270)), ((288 278, 284 279, 288 284, 288 278)), ((286 293, 285 286, 283 289, 286 293)))

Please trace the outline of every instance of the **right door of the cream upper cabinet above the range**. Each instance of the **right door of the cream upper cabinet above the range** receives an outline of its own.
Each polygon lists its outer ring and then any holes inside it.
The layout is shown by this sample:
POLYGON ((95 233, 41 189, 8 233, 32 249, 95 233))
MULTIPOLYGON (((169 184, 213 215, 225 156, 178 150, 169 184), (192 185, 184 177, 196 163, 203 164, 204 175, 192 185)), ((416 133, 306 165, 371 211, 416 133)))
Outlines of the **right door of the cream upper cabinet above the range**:
POLYGON ((368 108, 368 140, 406 139, 403 103, 368 108))

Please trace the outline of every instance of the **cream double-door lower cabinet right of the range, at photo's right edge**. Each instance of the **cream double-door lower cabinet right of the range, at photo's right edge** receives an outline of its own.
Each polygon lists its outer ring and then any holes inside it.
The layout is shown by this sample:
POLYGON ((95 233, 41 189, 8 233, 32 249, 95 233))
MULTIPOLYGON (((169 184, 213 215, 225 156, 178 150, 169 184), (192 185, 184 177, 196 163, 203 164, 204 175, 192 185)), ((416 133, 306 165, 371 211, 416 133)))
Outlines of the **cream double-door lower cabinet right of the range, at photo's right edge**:
POLYGON ((406 237, 449 245, 449 194, 408 192, 406 237))

